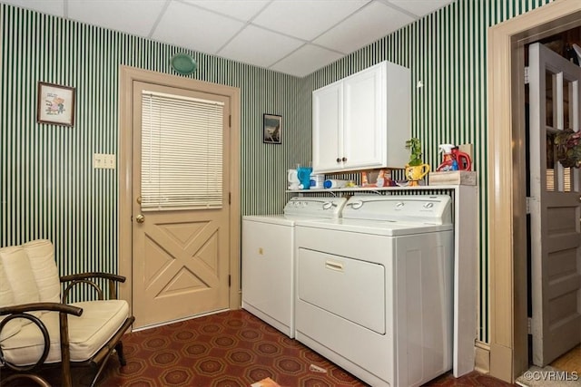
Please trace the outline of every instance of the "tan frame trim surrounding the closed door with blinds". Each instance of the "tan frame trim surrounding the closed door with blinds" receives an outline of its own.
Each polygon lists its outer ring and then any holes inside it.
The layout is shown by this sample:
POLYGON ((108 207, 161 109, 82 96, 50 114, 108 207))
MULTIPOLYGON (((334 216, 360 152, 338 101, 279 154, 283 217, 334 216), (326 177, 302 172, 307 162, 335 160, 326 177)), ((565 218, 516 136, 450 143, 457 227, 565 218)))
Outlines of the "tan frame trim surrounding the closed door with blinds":
POLYGON ((241 307, 241 206, 240 206, 240 89, 217 83, 202 82, 166 73, 156 73, 130 66, 120 66, 119 71, 119 274, 126 281, 119 286, 119 297, 129 303, 133 314, 133 249, 132 249, 132 180, 133 180, 133 82, 162 83, 224 95, 231 101, 231 165, 229 191, 230 203, 230 308, 241 307))

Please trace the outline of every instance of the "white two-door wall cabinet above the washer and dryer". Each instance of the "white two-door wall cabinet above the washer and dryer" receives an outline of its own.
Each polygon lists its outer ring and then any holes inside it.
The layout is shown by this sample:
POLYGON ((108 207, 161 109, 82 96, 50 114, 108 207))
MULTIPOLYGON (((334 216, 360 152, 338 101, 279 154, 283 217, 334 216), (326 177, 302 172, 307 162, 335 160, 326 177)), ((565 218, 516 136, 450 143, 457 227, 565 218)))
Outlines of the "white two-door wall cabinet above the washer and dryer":
POLYGON ((389 62, 314 91, 313 172, 403 168, 410 100, 409 69, 389 62))

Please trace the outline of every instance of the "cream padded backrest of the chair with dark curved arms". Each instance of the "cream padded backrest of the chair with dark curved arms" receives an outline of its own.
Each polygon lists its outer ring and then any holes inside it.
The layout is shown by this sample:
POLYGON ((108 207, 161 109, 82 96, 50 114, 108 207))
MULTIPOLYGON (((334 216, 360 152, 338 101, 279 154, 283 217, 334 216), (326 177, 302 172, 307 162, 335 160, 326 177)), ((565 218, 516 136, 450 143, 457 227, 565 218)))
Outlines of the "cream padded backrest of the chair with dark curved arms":
MULTIPOLYGON (((60 279, 54 262, 54 247, 49 240, 0 248, 0 306, 60 301, 60 279)), ((31 314, 40 316, 43 313, 47 312, 31 314)), ((15 319, 6 324, 0 341, 20 332, 24 324, 30 321, 15 319)))

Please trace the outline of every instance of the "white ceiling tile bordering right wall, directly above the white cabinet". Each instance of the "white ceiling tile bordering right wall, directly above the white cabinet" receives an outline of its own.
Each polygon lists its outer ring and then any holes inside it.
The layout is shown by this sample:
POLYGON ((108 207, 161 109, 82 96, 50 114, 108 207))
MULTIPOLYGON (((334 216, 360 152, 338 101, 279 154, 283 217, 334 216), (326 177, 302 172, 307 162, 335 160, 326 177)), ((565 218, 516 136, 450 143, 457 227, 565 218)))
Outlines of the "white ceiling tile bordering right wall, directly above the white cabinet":
POLYGON ((377 1, 313 41, 341 53, 371 44, 415 19, 377 1))

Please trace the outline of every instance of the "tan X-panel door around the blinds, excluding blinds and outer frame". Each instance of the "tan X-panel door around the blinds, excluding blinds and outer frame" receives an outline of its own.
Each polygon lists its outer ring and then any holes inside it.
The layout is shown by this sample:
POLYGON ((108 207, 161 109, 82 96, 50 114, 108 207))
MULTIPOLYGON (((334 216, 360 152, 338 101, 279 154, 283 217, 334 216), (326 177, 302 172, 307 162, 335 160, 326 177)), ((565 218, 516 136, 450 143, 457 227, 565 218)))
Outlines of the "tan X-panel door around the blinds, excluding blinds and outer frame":
MULTIPOLYGON (((229 307, 229 101, 223 96, 133 82, 134 328, 229 307), (223 102, 222 208, 141 208, 142 92, 223 102)), ((194 150, 192 150, 194 151, 194 150)))

